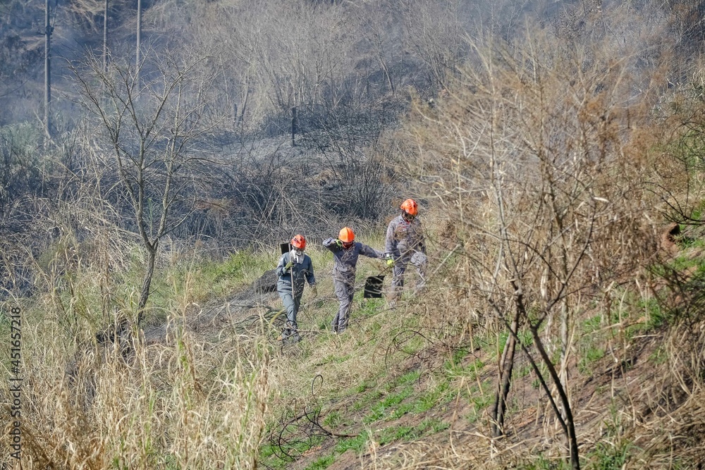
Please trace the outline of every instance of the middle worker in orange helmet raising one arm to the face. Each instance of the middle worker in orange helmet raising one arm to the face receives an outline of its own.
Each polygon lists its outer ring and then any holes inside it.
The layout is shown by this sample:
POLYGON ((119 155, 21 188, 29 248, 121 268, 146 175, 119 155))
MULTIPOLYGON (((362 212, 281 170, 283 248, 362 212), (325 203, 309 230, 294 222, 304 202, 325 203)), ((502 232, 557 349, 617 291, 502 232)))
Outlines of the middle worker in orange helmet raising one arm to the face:
POLYGON ((338 238, 324 240, 323 246, 333 252, 333 285, 341 308, 338 309, 331 326, 333 332, 340 335, 348 328, 350 308, 353 307, 357 258, 362 254, 369 258, 381 259, 383 254, 363 243, 355 242, 355 233, 349 227, 343 227, 338 238))

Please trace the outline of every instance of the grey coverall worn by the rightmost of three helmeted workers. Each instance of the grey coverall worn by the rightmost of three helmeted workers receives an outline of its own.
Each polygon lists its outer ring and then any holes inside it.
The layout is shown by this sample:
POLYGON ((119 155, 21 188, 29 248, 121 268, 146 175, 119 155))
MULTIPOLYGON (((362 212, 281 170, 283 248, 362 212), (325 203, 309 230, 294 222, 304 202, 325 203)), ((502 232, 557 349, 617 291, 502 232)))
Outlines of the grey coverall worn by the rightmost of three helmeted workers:
POLYGON ((424 233, 418 218, 411 222, 406 221, 403 216, 392 219, 387 227, 386 243, 384 247, 386 254, 391 254, 394 258, 394 268, 392 269, 392 298, 398 300, 404 287, 404 272, 406 265, 411 263, 416 266, 419 273, 417 290, 426 285, 426 246, 424 245, 424 233))

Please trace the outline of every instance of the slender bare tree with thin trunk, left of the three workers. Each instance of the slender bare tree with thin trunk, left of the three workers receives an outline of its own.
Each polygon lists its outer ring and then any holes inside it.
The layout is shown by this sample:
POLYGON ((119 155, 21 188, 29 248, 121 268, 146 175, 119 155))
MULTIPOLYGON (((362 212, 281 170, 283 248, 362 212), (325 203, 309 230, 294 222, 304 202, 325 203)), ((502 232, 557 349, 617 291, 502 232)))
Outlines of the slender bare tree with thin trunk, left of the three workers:
POLYGON ((95 150, 112 154, 125 197, 133 208, 135 230, 147 252, 145 276, 137 305, 144 316, 162 238, 192 211, 204 159, 196 143, 207 128, 201 123, 207 94, 194 94, 202 83, 202 58, 162 54, 137 91, 137 70, 114 61, 103 72, 100 58, 89 54, 72 63, 80 104, 98 118, 95 150), (140 97, 137 100, 137 97, 140 97))

